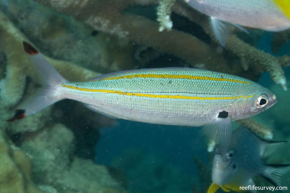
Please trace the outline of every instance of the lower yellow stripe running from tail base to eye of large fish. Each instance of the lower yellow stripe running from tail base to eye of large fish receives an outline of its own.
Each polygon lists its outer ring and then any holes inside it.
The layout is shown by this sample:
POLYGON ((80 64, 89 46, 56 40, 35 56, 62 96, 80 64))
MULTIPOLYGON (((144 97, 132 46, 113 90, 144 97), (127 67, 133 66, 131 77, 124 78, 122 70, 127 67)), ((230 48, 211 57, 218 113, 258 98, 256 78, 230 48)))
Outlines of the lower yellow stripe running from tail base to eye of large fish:
POLYGON ((62 84, 62 87, 70 88, 74 90, 80 90, 85 92, 104 92, 104 93, 113 93, 127 96, 136 96, 136 97, 148 97, 148 98, 160 98, 160 99, 193 99, 193 100, 232 100, 232 99, 240 99, 240 98, 252 98, 257 95, 247 95, 247 96, 233 96, 233 97, 191 97, 191 96, 182 96, 182 95, 163 95, 163 94, 144 94, 137 92, 123 92, 120 90, 103 90, 103 89, 91 89, 91 88, 81 88, 71 85, 62 84))

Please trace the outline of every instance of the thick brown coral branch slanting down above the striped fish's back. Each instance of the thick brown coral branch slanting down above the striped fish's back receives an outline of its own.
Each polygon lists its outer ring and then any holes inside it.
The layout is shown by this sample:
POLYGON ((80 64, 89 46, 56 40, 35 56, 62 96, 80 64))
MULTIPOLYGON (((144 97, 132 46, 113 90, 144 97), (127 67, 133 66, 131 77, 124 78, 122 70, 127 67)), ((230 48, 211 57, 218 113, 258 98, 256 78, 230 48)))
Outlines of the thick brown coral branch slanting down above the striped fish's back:
MULTIPOLYGON (((198 65, 204 69, 232 74, 239 74, 242 70, 242 67, 239 65, 236 65, 234 69, 225 65, 229 62, 214 47, 188 33, 179 30, 159 32, 157 22, 123 12, 124 8, 128 6, 135 4, 147 6, 152 4, 156 5, 158 1, 88 0, 87 6, 77 7, 75 4, 65 3, 61 8, 59 4, 55 4, 55 1, 52 0, 35 1, 73 16, 80 21, 84 21, 96 30, 128 38, 135 43, 173 54, 186 60, 193 67, 198 65)), ((70 0, 67 1, 70 2, 70 0)), ((186 6, 186 4, 182 6, 186 6)))

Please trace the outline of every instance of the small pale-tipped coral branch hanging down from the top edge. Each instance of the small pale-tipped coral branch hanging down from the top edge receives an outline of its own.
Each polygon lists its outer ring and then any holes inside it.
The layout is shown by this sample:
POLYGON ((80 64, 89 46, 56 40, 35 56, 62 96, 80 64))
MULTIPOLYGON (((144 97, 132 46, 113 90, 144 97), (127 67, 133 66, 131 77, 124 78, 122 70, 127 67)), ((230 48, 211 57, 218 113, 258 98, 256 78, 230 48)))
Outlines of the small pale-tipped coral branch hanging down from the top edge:
POLYGON ((161 0, 157 7, 157 21, 159 22, 159 31, 163 30, 170 31, 173 23, 170 19, 171 8, 174 5, 175 0, 161 0))

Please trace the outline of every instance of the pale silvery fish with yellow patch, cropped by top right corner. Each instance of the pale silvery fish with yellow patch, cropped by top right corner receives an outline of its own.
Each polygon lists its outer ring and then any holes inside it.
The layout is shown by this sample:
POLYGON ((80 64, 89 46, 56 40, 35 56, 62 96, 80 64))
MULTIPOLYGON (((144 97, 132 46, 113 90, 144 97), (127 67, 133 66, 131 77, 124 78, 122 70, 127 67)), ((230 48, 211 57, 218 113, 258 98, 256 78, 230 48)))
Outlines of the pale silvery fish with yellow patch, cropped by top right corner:
MULTIPOLYGON (((184 0, 211 17, 218 41, 224 46, 230 34, 229 22, 240 29, 246 26, 278 32, 290 28, 289 0, 184 0)), ((243 29, 244 30, 244 29, 243 29)))

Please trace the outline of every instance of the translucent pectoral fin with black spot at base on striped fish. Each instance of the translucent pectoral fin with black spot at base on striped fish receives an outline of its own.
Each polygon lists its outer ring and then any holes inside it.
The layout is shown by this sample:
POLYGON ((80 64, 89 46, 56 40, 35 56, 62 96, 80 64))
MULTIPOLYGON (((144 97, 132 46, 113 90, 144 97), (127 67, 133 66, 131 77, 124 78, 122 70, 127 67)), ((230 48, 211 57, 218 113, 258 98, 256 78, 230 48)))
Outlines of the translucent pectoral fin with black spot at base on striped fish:
POLYGON ((227 111, 220 112, 215 121, 203 128, 204 133, 216 144, 220 144, 222 150, 226 150, 231 142, 232 124, 228 115, 227 111))

